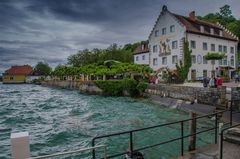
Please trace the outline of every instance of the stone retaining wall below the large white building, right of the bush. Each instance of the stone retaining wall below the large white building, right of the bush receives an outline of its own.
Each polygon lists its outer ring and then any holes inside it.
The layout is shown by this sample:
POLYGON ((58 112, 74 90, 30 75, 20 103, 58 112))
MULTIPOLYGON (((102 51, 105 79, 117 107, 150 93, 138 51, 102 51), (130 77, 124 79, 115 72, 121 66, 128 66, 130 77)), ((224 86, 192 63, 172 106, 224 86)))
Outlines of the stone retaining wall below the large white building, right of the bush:
POLYGON ((146 93, 166 96, 170 98, 194 101, 198 103, 225 106, 226 105, 226 87, 221 88, 200 88, 176 85, 153 85, 149 84, 146 93))

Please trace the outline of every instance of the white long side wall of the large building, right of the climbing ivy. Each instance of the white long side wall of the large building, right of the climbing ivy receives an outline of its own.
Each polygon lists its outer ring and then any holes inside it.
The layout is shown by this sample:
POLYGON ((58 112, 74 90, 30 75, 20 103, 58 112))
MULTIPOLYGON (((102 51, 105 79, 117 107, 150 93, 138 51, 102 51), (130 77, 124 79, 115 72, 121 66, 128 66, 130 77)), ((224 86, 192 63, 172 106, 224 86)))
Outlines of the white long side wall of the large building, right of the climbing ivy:
MULTIPOLYGON (((203 35, 196 35, 196 34, 191 34, 188 33, 187 34, 187 39, 189 41, 189 45, 190 45, 190 41, 196 41, 196 49, 192 49, 192 55, 196 55, 196 59, 197 56, 200 55, 201 58, 203 58, 204 55, 206 55, 208 52, 213 52, 211 51, 211 44, 215 44, 215 52, 218 52, 218 46, 219 45, 225 45, 227 46, 227 61, 229 63, 229 65, 231 67, 236 68, 236 45, 237 43, 234 41, 229 41, 229 40, 224 40, 224 39, 218 39, 218 38, 214 38, 214 37, 208 37, 208 36, 203 36, 203 35), (206 42, 208 45, 208 49, 207 50, 203 50, 203 42, 206 42), (234 47, 234 54, 230 53, 230 47, 234 47), (231 60, 231 56, 234 56, 234 65, 232 66, 230 64, 230 60, 231 60)), ((190 48, 190 46, 189 46, 190 48)), ((191 48, 190 48, 191 49, 191 48)), ((214 65, 214 69, 216 69, 219 66, 226 66, 226 65, 219 65, 218 60, 215 61, 215 65, 214 65)), ((192 67, 189 71, 188 74, 188 79, 191 79, 191 70, 195 69, 196 70, 196 77, 203 77, 203 70, 207 70, 208 72, 208 77, 211 76, 211 71, 212 71, 212 64, 211 61, 208 61, 208 64, 203 64, 203 59, 201 61, 201 63, 198 63, 196 60, 196 64, 192 64, 192 67)))

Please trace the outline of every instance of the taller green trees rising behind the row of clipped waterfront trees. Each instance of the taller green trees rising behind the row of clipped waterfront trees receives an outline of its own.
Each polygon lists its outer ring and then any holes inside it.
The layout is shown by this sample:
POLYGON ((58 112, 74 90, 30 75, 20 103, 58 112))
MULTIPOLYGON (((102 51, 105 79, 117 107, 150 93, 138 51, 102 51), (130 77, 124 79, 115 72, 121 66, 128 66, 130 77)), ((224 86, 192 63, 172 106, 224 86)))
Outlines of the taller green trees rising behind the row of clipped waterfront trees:
POLYGON ((103 63, 106 60, 116 60, 120 62, 133 62, 133 51, 139 43, 126 44, 123 47, 118 47, 117 44, 112 44, 107 49, 82 50, 77 54, 68 57, 68 64, 72 66, 85 66, 93 63, 103 63))

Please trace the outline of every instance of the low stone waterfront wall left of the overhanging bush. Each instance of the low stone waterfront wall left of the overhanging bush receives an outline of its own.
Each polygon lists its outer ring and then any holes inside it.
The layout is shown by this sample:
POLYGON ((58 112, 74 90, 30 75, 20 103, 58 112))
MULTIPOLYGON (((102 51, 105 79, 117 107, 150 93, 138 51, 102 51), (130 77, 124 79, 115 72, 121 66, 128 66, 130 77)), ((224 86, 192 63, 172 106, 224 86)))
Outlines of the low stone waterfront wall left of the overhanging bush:
POLYGON ((59 87, 65 89, 79 90, 80 93, 102 95, 103 91, 91 81, 58 81, 49 80, 42 82, 43 86, 59 87))

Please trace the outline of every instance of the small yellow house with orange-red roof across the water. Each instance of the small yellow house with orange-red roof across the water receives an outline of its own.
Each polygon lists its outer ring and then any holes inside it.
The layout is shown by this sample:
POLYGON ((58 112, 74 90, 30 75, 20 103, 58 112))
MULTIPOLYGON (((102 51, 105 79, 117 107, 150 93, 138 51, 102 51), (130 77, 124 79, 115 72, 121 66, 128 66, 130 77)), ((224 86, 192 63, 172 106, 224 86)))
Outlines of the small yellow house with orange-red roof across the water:
POLYGON ((12 66, 3 74, 3 83, 26 83, 27 76, 33 73, 29 65, 12 66))

